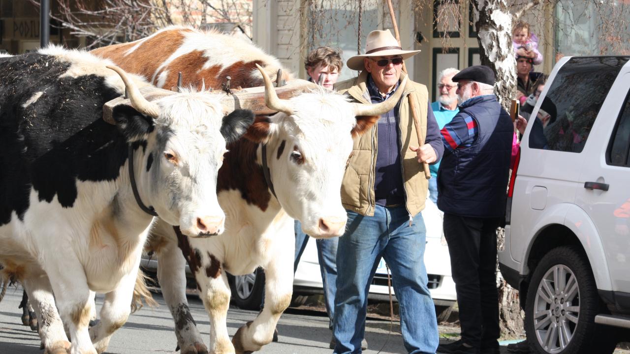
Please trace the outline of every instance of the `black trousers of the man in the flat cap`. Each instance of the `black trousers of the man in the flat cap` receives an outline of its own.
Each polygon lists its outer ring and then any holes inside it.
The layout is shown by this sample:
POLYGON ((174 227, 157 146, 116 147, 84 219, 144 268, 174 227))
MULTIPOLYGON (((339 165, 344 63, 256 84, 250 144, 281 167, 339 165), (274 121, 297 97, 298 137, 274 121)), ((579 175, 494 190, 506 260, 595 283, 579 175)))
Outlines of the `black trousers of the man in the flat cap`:
POLYGON ((496 228, 500 219, 444 214, 450 270, 464 343, 479 347, 500 335, 496 289, 496 228))

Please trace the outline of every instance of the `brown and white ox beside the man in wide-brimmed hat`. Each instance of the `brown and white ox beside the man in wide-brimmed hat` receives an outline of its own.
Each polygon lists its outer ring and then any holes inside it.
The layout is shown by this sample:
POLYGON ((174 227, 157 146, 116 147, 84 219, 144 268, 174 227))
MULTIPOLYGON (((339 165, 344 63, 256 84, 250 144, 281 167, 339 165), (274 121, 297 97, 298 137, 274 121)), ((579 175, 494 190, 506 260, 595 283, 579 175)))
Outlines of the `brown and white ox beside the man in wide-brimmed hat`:
POLYGON ((318 86, 280 100, 266 74, 277 71, 277 60, 229 35, 187 28, 170 28, 95 52, 165 87, 175 84, 177 72, 183 73, 185 83, 203 81, 215 86, 224 76, 231 76, 232 83, 234 77, 249 77, 239 82, 243 87, 265 83, 266 104, 279 113, 256 117, 244 138, 228 146, 219 170, 217 196, 226 212, 226 231, 208 238, 178 237, 172 227, 158 222, 149 245, 157 255, 157 277, 175 319, 182 353, 207 353, 186 302, 186 260, 209 313, 210 352, 260 350, 272 341, 280 314, 291 300, 293 219, 300 220, 302 230, 312 237, 343 234, 347 214, 340 189, 353 136, 369 130, 381 113, 391 110, 403 90, 379 105, 349 103, 345 96, 318 86), (256 74, 250 69, 256 64, 266 69, 256 74), (263 159, 275 195, 266 183, 263 159), (231 292, 226 271, 245 275, 259 266, 266 277, 263 311, 239 328, 230 342, 226 315, 231 292))

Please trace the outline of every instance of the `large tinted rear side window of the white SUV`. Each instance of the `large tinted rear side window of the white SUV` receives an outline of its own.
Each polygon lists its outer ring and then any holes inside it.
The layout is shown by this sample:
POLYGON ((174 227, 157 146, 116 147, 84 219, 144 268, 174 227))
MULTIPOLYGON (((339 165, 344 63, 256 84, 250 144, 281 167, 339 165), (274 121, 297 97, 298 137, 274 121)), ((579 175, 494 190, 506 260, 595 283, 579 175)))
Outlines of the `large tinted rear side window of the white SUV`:
POLYGON ((581 152, 628 57, 575 57, 558 71, 529 135, 534 149, 581 152))

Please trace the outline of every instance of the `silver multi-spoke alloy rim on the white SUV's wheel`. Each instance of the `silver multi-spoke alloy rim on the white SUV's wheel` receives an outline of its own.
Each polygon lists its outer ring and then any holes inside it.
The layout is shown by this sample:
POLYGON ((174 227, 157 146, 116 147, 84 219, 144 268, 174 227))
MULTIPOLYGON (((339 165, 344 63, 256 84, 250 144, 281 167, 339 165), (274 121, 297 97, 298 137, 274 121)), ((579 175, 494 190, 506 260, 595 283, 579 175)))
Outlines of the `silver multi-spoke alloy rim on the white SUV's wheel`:
POLYGON ((534 300, 534 331, 539 345, 550 354, 571 342, 580 317, 578 280, 566 265, 555 265, 542 277, 534 300))

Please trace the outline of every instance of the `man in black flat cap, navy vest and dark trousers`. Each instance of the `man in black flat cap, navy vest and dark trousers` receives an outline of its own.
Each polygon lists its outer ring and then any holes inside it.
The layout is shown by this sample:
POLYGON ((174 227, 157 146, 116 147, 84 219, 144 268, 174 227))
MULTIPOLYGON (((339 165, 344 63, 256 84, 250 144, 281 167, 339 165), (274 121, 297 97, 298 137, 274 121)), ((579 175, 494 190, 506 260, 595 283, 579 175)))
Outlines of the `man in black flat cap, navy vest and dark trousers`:
POLYGON ((490 67, 467 67, 452 81, 459 113, 441 130, 437 206, 444 212, 462 337, 438 352, 498 354, 496 228, 505 215, 514 126, 496 100, 490 67))

